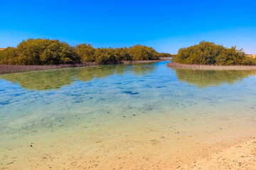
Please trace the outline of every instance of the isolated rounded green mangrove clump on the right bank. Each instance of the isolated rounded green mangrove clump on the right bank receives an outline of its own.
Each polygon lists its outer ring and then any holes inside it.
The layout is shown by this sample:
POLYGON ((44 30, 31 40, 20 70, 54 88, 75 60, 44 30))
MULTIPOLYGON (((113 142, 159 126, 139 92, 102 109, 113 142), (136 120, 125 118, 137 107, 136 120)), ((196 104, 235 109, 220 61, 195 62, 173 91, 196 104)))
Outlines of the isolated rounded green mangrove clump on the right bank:
POLYGON ((172 62, 182 64, 217 64, 217 65, 255 65, 256 60, 247 57, 245 52, 236 47, 223 47, 214 42, 202 41, 199 45, 181 48, 171 58, 172 62))

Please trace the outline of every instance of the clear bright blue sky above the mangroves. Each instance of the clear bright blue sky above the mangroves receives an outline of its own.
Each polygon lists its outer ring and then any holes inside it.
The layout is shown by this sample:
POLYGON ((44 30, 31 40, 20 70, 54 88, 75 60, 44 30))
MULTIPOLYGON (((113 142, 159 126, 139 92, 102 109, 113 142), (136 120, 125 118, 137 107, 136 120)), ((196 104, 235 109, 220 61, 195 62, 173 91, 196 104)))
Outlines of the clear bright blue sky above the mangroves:
POLYGON ((208 40, 256 53, 256 1, 0 0, 0 47, 27 38, 171 53, 208 40))

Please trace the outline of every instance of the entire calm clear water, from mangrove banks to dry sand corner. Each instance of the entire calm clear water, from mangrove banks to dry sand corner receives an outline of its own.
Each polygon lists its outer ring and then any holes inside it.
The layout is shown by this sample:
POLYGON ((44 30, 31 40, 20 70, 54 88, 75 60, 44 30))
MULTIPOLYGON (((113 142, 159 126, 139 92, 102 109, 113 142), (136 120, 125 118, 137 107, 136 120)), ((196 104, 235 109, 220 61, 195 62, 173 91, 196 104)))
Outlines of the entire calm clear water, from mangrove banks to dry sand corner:
POLYGON ((0 168, 169 169, 255 137, 255 101, 255 71, 159 62, 3 74, 0 168))

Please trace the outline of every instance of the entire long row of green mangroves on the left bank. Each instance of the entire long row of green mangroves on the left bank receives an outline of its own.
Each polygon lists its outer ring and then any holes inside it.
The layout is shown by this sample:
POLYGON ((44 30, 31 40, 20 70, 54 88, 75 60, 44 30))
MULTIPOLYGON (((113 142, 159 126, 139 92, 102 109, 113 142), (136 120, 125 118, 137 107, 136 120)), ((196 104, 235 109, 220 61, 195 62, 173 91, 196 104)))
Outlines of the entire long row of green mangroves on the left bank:
POLYGON ((0 64, 49 65, 78 62, 117 62, 120 60, 157 60, 170 56, 152 47, 134 45, 120 48, 94 48, 80 44, 72 47, 66 42, 49 39, 23 40, 17 47, 0 51, 0 64))

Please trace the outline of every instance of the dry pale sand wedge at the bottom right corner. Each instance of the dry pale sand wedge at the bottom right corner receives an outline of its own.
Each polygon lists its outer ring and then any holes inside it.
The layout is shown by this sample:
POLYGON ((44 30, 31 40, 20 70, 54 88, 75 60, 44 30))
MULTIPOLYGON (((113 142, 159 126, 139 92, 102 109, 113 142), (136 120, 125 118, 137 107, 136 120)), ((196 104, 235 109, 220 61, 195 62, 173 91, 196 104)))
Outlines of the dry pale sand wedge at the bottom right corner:
POLYGON ((256 140, 229 147, 178 169, 256 169, 256 140))

